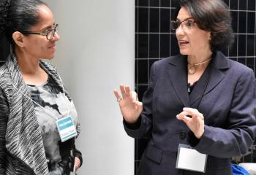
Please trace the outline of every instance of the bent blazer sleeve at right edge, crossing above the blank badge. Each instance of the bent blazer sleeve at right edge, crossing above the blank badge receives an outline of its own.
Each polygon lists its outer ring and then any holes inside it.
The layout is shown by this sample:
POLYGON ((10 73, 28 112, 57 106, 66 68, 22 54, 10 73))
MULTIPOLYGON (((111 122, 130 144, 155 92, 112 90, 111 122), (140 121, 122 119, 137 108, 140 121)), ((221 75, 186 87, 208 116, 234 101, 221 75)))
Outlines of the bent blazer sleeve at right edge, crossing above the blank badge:
POLYGON ((252 114, 256 104, 255 91, 253 72, 244 72, 236 85, 225 128, 205 125, 200 140, 189 133, 189 144, 197 151, 217 158, 244 155, 255 139, 256 119, 252 114))

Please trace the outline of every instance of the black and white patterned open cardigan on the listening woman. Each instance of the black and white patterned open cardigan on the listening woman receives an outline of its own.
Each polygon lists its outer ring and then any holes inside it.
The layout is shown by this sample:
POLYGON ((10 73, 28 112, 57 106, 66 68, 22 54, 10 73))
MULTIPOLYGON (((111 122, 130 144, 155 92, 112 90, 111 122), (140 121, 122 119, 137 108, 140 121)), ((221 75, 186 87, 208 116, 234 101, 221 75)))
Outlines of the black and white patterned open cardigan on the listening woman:
MULTIPOLYGON (((56 69, 45 61, 40 61, 40 66, 61 87, 56 69)), ((13 86, 30 96, 15 55, 10 54, 0 68, 0 174, 46 175, 48 164, 34 104, 13 86)), ((66 90, 65 94, 70 99, 66 90)), ((80 133, 79 123, 77 129, 80 133)), ((72 143, 75 147, 75 140, 72 143)))

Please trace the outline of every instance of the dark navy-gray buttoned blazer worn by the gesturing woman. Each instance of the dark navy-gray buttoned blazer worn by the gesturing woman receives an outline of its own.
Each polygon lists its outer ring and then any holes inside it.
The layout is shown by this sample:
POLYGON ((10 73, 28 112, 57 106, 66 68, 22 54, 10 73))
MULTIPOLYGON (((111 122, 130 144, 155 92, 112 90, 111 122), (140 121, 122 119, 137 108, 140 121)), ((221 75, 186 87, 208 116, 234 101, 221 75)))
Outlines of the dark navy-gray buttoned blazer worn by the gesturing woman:
POLYGON ((124 122, 129 136, 149 139, 138 174, 200 174, 175 168, 178 144, 189 144, 208 155, 206 174, 232 174, 230 157, 244 155, 255 139, 255 91, 252 69, 227 59, 222 52, 214 55, 190 95, 187 56, 155 62, 137 128, 124 122), (197 108, 210 67, 211 78, 198 107, 205 117, 205 132, 198 140, 184 122, 176 119, 176 114, 184 106, 197 108))

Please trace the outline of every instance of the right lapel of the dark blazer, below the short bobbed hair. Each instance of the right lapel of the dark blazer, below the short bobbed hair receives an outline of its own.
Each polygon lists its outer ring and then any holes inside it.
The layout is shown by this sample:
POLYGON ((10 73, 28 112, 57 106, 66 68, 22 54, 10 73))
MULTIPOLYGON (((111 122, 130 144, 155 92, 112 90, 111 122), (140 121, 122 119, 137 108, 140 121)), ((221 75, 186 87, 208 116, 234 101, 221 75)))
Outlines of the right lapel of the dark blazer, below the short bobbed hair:
POLYGON ((222 72, 222 69, 229 68, 228 60, 225 57, 225 55, 222 54, 222 52, 216 53, 211 64, 207 67, 202 77, 200 77, 199 81, 197 82, 197 85, 195 85, 195 88, 192 90, 192 93, 189 96, 190 106, 192 107, 195 107, 195 103, 198 100, 200 100, 200 97, 202 96, 203 89, 209 77, 208 75, 210 74, 210 67, 212 69, 211 77, 209 79, 206 90, 203 93, 203 96, 206 96, 206 94, 210 93, 211 90, 213 90, 219 84, 219 82, 222 82, 222 79, 224 79, 225 77, 225 74, 222 72))

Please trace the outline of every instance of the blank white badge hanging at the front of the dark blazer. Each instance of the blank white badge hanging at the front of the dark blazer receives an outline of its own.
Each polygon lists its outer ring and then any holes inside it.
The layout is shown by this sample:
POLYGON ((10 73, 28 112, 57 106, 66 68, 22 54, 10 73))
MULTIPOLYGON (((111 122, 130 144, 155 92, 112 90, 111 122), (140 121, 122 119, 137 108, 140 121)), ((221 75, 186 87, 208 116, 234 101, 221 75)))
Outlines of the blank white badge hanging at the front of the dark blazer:
POLYGON ((206 172, 207 155, 197 152, 187 144, 179 144, 176 168, 206 172))

